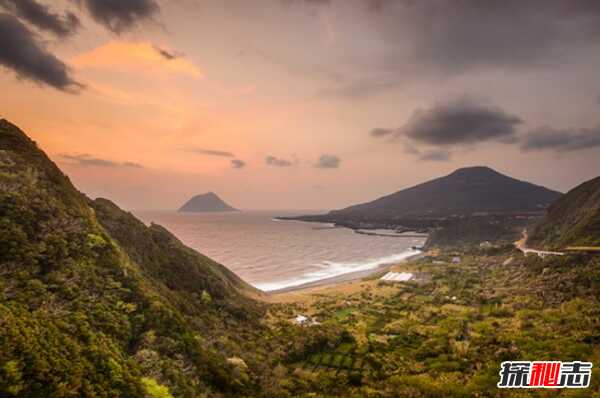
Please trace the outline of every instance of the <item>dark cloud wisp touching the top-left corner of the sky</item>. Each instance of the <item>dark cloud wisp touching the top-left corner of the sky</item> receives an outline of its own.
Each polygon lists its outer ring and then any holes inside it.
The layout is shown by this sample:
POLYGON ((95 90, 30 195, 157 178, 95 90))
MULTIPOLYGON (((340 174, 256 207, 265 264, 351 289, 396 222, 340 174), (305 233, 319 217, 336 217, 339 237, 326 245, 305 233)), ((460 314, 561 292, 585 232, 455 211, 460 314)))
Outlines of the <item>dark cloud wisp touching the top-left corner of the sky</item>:
POLYGON ((79 18, 71 12, 64 16, 55 14, 49 7, 35 0, 0 0, 0 7, 16 14, 37 28, 64 37, 79 28, 79 18))

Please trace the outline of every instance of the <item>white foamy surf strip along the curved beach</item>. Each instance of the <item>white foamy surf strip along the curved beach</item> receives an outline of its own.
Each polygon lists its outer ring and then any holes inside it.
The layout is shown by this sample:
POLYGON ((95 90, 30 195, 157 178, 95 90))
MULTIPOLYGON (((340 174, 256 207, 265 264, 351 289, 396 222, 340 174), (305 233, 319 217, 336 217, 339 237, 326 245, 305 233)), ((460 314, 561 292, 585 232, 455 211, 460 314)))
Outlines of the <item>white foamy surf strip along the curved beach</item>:
POLYGON ((419 253, 421 253, 420 250, 407 249, 402 253, 392 254, 391 256, 380 257, 366 261, 352 261, 345 263, 323 261, 323 263, 320 264, 320 266, 322 267, 322 269, 320 270, 308 272, 298 277, 282 281, 256 283, 254 284, 254 287, 265 292, 269 292, 273 290, 284 289, 287 287, 300 286, 304 285, 305 283, 316 282, 322 279, 349 274, 351 272, 368 271, 370 269, 375 269, 382 265, 395 264, 406 260, 409 257, 415 256, 419 253))

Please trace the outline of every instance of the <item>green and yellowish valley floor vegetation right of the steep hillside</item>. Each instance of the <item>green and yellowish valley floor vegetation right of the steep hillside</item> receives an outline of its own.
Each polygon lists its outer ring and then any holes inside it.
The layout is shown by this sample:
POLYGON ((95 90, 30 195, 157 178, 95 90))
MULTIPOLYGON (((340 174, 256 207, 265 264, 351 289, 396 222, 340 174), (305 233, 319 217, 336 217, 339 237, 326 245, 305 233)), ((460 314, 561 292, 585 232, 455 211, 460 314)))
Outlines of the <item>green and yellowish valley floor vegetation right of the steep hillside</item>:
POLYGON ((499 391, 505 360, 600 361, 600 258, 523 257, 510 246, 403 265, 420 277, 377 282, 298 308, 348 335, 293 364, 303 392, 360 397, 600 396, 499 391))

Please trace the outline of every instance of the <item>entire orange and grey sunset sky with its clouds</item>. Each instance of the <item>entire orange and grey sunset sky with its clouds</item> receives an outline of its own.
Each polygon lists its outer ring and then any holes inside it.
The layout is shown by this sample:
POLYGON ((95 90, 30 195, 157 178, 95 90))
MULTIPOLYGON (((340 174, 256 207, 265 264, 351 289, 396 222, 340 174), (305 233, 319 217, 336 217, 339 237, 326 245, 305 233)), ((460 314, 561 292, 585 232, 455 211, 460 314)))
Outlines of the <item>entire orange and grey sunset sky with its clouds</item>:
POLYGON ((0 0, 0 117, 91 197, 336 209, 600 173, 594 0, 0 0))

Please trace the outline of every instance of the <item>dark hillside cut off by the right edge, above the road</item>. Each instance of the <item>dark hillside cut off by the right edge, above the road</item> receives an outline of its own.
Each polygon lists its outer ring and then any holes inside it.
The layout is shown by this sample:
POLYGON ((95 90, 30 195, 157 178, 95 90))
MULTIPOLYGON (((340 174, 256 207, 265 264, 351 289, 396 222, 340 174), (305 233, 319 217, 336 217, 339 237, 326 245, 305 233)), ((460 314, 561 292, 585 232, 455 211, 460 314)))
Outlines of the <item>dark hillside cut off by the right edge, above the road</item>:
POLYGON ((548 209, 529 234, 533 247, 600 246, 600 177, 573 188, 548 209))

